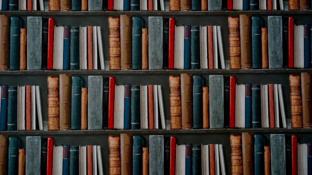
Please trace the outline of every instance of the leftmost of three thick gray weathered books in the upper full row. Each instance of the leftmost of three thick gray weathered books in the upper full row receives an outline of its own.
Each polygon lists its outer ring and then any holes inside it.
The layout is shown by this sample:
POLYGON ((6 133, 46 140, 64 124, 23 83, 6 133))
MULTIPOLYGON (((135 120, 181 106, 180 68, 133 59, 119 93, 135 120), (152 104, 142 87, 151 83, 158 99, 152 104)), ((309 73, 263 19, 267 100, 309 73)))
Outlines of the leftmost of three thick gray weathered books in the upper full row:
POLYGON ((27 70, 41 70, 42 17, 27 17, 27 70))

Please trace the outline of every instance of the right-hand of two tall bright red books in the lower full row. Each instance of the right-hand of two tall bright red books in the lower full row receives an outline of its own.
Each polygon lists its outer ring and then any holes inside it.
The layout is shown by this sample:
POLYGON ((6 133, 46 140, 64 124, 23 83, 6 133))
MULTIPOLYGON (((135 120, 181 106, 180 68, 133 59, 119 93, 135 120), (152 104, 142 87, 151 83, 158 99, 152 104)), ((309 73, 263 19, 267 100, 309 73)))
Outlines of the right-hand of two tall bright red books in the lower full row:
POLYGON ((235 128, 236 77, 230 76, 230 128, 235 128))

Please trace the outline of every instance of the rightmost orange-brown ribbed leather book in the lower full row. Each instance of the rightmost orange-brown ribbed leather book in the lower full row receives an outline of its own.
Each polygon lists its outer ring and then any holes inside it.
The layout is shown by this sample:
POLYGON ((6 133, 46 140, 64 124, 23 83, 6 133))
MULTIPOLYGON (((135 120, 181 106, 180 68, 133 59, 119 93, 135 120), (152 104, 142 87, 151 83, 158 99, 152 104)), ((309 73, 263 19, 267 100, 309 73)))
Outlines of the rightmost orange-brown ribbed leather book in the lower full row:
POLYGON ((289 75, 291 128, 303 127, 300 83, 300 75, 289 75))

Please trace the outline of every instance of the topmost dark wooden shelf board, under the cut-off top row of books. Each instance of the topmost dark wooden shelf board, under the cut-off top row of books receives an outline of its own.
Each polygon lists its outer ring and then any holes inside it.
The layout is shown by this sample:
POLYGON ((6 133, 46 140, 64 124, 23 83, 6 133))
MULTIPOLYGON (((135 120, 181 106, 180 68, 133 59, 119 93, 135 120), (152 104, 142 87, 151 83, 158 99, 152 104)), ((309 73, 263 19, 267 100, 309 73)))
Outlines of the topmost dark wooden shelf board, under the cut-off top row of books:
POLYGON ((44 12, 44 11, 0 11, 0 15, 45 16, 45 15, 309 15, 311 10, 284 11, 284 10, 244 10, 244 11, 83 11, 83 12, 44 12))

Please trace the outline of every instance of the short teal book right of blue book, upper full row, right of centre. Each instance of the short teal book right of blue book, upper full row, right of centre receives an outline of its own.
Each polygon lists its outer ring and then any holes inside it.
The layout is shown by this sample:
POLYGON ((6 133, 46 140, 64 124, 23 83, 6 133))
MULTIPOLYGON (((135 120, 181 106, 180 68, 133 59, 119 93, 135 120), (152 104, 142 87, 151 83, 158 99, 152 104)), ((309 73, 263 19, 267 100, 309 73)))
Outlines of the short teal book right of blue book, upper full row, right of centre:
POLYGON ((200 69, 199 26, 191 27, 191 69, 200 69))

